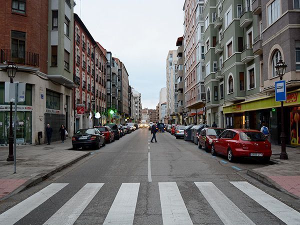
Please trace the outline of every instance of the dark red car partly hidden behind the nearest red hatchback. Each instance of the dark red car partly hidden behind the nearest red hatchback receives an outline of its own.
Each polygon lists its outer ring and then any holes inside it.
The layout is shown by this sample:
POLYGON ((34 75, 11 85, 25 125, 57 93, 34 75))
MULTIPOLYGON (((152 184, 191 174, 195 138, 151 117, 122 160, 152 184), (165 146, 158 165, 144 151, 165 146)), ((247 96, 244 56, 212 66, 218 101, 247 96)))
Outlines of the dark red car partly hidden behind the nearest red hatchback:
POLYGON ((198 135, 198 148, 205 148, 205 151, 211 150, 212 140, 223 132, 223 128, 207 127, 203 128, 198 135))

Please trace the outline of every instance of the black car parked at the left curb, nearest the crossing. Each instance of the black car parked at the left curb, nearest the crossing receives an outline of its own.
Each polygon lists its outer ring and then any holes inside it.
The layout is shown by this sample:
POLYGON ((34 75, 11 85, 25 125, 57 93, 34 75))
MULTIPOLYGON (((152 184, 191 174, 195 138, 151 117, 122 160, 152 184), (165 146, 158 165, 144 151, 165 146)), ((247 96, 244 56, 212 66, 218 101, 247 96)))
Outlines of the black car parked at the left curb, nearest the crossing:
POLYGON ((78 129, 72 136, 74 150, 80 147, 99 149, 101 146, 105 146, 105 137, 97 128, 78 129))

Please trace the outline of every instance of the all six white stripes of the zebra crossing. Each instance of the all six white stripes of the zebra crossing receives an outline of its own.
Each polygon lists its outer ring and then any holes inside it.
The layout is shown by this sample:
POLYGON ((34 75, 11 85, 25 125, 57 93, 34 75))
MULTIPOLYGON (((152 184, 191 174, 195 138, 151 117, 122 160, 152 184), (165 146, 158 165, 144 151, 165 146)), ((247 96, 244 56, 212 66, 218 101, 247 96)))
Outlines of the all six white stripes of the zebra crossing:
MULTIPOLYGON (((300 212, 246 181, 230 181, 232 188, 249 196, 286 224, 300 224, 300 212)), ((254 224, 213 182, 193 182, 224 224, 254 224)), ((68 183, 51 183, 0 214, 0 224, 14 224, 58 193, 68 183)), ((73 224, 105 183, 86 183, 44 224, 73 224)), ((132 224, 140 183, 122 183, 103 224, 132 224)), ((158 182, 163 224, 193 224, 176 182, 158 182)), ((209 210, 207 208, 207 210, 209 210)))

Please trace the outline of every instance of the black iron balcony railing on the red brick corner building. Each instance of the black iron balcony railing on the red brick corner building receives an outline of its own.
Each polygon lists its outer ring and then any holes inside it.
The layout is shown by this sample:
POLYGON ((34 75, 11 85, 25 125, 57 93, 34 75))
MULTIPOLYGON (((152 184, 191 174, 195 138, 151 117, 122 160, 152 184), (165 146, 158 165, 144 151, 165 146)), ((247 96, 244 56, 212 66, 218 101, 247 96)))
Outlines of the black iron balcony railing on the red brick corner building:
POLYGON ((36 66, 38 67, 39 54, 29 51, 23 52, 21 55, 16 50, 1 49, 0 63, 13 62, 20 65, 36 66))

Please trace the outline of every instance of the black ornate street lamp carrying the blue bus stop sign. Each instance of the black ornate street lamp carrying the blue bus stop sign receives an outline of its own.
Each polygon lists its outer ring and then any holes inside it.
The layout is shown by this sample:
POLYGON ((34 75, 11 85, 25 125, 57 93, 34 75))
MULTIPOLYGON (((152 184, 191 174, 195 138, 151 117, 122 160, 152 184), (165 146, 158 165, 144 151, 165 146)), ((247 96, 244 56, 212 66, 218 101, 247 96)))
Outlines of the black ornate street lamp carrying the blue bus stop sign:
MULTIPOLYGON (((284 61, 280 59, 277 64, 274 66, 276 68, 277 75, 279 76, 280 80, 282 80, 282 76, 285 73, 285 69, 287 67, 284 64, 284 61)), ((281 140, 281 152, 280 152, 280 159, 287 159, 287 154, 285 150, 285 138, 286 135, 284 133, 284 115, 283 115, 283 101, 281 101, 281 133, 280 133, 280 140, 281 140)))

